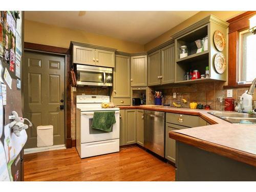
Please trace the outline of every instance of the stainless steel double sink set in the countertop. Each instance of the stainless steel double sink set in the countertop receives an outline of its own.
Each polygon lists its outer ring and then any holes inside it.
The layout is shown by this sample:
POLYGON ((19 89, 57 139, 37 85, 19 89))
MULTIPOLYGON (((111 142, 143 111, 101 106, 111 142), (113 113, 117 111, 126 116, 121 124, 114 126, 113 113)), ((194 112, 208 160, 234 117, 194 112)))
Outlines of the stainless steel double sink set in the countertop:
POLYGON ((220 111, 208 113, 234 124, 256 124, 256 115, 252 114, 220 111))

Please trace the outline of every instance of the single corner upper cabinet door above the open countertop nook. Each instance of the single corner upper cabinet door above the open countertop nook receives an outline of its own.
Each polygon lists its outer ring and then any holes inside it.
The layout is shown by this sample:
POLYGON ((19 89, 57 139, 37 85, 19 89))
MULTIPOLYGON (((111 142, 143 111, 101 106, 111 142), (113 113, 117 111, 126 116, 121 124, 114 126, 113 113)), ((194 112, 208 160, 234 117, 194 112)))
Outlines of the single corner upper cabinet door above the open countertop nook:
POLYGON ((147 86, 146 55, 131 57, 131 86, 147 86))

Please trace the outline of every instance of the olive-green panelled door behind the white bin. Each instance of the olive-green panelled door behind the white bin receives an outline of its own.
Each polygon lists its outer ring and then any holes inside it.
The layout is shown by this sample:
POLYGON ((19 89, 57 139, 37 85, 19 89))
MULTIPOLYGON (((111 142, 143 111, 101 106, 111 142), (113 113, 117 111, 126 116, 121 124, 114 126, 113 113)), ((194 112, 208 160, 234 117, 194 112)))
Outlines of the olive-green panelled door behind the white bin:
POLYGON ((25 148, 36 147, 36 128, 53 125, 53 144, 65 144, 65 58, 25 52, 23 67, 24 117, 33 126, 27 130, 25 148))

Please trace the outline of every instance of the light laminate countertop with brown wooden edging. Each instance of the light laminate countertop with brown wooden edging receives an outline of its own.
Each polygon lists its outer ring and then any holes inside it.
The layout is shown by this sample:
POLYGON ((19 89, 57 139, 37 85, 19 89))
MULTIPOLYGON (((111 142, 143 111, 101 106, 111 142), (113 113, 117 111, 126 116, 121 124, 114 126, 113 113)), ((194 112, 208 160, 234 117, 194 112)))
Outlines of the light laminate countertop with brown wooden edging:
POLYGON ((159 107, 157 105, 119 106, 119 108, 200 116, 211 125, 171 131, 169 137, 205 151, 256 166, 256 125, 233 124, 208 114, 215 110, 159 107))

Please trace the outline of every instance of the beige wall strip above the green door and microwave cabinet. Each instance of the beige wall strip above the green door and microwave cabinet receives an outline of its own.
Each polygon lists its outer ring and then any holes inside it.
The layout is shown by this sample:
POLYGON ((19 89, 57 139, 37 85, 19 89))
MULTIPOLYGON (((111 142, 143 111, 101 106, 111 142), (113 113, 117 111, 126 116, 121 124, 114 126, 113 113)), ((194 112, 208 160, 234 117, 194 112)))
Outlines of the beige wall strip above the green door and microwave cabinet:
POLYGON ((25 20, 24 41, 36 44, 69 48, 70 41, 84 42, 87 44, 110 47, 118 51, 136 53, 144 51, 144 46, 130 41, 113 37, 73 30, 53 25, 42 24, 25 20))

